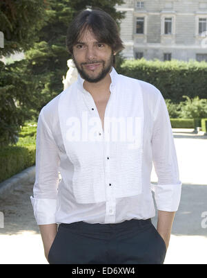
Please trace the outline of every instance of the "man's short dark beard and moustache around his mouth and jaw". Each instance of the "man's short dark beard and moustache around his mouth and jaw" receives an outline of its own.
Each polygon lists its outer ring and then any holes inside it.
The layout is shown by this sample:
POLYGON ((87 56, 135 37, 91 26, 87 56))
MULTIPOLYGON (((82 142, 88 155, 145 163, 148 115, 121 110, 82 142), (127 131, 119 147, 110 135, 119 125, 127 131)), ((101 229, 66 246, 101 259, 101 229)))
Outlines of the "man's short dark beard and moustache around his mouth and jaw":
POLYGON ((105 78, 107 76, 107 74, 110 72, 112 65, 114 63, 114 55, 113 55, 113 53, 111 53, 110 58, 108 58, 108 60, 106 60, 106 61, 92 60, 92 61, 88 61, 88 62, 83 62, 81 64, 77 64, 73 55, 72 55, 72 60, 75 63, 75 66, 77 67, 77 71, 79 72, 79 75, 81 76, 81 78, 83 78, 87 82, 96 83, 96 82, 99 82, 100 80, 102 80, 103 78, 105 78), (102 70, 97 76, 90 76, 86 72, 86 70, 83 68, 84 64, 102 64, 102 70))

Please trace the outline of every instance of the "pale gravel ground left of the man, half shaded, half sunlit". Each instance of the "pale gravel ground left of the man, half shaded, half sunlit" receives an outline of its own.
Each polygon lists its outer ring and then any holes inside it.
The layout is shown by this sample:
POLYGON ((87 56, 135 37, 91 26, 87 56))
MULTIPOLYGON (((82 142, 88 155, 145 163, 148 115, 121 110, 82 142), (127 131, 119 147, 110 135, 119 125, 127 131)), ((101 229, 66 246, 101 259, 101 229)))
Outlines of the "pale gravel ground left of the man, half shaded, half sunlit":
POLYGON ((0 264, 48 263, 30 202, 33 184, 22 184, 0 199, 4 227, 0 229, 0 264))

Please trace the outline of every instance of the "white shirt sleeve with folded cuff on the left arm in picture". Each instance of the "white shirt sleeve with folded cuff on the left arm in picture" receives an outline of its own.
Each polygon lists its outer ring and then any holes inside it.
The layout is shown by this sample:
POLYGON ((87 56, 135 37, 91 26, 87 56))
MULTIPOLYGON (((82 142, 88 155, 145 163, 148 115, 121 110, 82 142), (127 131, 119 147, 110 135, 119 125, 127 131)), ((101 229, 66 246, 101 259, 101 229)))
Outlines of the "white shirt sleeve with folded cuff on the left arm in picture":
POLYGON ((34 197, 30 196, 37 225, 56 223, 59 184, 59 149, 42 111, 37 123, 34 197))

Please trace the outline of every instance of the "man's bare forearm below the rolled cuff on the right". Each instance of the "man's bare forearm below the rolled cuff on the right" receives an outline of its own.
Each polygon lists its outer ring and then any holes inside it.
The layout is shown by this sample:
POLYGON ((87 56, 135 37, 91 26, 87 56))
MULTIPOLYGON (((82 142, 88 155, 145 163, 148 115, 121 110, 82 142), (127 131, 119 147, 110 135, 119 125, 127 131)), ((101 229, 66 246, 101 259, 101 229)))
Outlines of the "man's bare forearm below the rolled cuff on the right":
POLYGON ((160 236, 164 239, 166 249, 168 249, 170 242, 170 234, 174 218, 175 211, 158 211, 157 232, 159 232, 160 236))

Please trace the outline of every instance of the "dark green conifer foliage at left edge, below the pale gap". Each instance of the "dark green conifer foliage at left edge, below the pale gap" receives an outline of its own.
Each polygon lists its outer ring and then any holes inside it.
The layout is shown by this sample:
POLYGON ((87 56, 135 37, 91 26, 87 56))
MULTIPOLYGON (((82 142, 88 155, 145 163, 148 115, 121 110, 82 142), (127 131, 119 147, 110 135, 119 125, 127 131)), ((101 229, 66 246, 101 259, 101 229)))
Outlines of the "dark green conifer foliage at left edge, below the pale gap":
POLYGON ((39 105, 34 77, 26 69, 25 60, 5 65, 0 62, 0 146, 17 141, 20 125, 31 119, 39 105))

